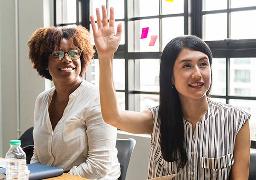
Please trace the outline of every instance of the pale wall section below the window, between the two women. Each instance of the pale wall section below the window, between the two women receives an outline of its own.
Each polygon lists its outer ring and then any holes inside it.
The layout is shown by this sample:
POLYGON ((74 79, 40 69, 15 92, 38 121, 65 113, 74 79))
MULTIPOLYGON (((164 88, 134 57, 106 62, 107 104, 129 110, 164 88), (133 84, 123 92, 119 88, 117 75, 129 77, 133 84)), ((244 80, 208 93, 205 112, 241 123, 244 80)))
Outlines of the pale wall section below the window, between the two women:
POLYGON ((150 135, 135 135, 118 130, 117 138, 136 140, 128 166, 126 180, 147 180, 147 164, 150 152, 150 135))

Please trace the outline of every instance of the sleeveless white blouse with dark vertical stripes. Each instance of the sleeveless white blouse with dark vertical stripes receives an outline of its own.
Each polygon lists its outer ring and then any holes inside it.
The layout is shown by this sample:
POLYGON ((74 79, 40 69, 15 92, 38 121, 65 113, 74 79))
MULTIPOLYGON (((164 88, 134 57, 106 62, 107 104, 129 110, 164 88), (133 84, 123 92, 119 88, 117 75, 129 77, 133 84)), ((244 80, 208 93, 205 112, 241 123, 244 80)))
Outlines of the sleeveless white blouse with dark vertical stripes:
POLYGON ((185 148, 188 165, 177 168, 176 162, 166 162, 160 150, 159 107, 151 108, 154 133, 148 179, 178 173, 172 180, 227 180, 234 164, 233 150, 238 134, 250 115, 227 104, 208 99, 208 110, 197 122, 194 134, 192 124, 183 118, 185 148))

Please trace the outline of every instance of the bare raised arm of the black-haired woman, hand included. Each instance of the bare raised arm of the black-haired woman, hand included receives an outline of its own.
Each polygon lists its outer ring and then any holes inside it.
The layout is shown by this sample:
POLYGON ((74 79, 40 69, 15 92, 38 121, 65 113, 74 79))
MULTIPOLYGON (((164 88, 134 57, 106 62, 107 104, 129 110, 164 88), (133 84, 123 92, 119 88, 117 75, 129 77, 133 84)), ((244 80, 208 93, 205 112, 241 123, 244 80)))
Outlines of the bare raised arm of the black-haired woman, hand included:
POLYGON ((112 126, 130 133, 153 133, 153 118, 150 110, 139 112, 119 111, 112 73, 113 56, 121 38, 121 24, 114 30, 114 9, 110 8, 108 26, 107 10, 102 5, 102 20, 100 10, 96 9, 97 27, 91 16, 91 27, 94 43, 100 64, 100 99, 101 114, 104 121, 112 126))

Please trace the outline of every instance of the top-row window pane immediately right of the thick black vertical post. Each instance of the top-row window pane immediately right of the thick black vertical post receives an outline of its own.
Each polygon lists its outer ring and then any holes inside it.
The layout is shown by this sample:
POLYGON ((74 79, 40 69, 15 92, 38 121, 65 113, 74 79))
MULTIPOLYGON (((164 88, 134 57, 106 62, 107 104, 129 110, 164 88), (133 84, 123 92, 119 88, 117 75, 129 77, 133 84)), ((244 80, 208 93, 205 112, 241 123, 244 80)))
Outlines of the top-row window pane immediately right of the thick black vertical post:
POLYGON ((202 0, 203 11, 227 9, 227 0, 202 0))

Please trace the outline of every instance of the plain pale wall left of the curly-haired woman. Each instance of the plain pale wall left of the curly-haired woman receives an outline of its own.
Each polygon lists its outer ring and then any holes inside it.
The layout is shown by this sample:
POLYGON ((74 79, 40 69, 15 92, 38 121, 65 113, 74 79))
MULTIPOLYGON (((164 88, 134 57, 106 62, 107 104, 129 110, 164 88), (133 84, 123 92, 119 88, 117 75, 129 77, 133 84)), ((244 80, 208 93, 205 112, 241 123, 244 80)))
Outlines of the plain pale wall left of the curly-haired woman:
POLYGON ((10 140, 33 126, 45 80, 32 68, 27 42, 46 26, 53 26, 53 0, 0 0, 0 157, 10 140))

